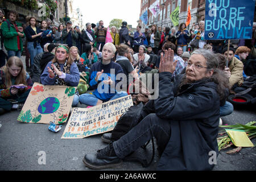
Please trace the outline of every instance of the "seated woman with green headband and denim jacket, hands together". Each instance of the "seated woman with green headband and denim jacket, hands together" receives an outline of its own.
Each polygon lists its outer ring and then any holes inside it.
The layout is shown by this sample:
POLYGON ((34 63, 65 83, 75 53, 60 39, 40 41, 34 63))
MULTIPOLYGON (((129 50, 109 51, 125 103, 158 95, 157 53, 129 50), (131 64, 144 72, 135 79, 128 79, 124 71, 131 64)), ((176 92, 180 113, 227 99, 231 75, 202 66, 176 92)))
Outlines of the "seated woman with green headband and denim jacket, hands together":
MULTIPOLYGON (((43 85, 77 86, 79 84, 79 69, 68 53, 68 46, 60 45, 56 48, 54 59, 49 61, 41 75, 43 85)), ((79 97, 75 94, 72 106, 76 106, 78 102, 79 97)))

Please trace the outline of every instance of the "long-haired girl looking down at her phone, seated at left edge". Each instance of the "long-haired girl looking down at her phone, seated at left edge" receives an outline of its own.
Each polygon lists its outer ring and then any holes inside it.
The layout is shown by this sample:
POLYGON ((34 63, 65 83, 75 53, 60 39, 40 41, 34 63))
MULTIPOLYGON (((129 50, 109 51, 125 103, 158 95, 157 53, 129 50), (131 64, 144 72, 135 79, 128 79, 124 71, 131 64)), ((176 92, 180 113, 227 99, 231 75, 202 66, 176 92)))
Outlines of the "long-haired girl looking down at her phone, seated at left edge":
POLYGON ((22 61, 17 56, 10 57, 0 73, 0 113, 21 110, 32 87, 22 61))

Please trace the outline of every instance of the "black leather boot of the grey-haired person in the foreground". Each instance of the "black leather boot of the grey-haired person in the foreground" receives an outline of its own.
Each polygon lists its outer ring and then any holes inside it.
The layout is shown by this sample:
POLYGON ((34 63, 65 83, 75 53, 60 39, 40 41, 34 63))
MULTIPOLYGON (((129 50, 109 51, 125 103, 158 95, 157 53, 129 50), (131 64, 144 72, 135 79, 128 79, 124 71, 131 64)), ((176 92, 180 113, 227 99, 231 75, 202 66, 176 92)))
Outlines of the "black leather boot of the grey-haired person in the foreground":
POLYGON ((97 154, 86 154, 82 162, 91 169, 106 169, 119 167, 122 164, 122 159, 115 155, 113 143, 110 143, 105 148, 98 150, 97 154))

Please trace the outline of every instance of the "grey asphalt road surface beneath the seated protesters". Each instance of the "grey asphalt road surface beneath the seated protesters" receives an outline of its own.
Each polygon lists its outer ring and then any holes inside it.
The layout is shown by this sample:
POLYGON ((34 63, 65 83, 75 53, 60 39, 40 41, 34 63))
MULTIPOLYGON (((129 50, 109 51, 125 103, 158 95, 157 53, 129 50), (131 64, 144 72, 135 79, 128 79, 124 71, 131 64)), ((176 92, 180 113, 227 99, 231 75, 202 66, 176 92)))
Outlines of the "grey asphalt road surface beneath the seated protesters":
MULTIPOLYGON (((86 171, 82 159, 85 154, 95 153, 104 148, 106 143, 101 141, 101 134, 84 139, 61 139, 64 127, 58 133, 48 130, 48 125, 35 123, 22 123, 17 121, 19 112, 10 111, 0 115, 0 170, 2 171, 86 171)), ((226 117, 222 117, 225 124, 245 124, 256 120, 256 114, 251 109, 236 109, 226 117)), ((256 143, 256 138, 252 139, 256 143)), ((242 148, 234 155, 226 154, 233 149, 229 147, 222 150, 217 158, 214 171, 233 171, 256 169, 256 148, 242 148)), ((151 158, 151 143, 147 146, 144 155, 151 158)), ((159 160, 157 150, 150 167, 143 168, 138 162, 123 162, 119 168, 108 169, 119 171, 147 171, 155 170, 159 160)))

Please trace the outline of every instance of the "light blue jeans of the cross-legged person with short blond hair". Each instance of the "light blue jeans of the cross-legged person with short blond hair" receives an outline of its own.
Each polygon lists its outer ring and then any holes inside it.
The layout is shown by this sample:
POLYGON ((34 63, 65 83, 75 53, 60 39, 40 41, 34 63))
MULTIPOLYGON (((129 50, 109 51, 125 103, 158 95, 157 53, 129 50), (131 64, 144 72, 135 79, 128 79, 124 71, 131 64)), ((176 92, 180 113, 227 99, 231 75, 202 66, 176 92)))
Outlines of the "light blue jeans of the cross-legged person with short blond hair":
MULTIPOLYGON (((128 94, 125 91, 117 92, 112 98, 110 98, 110 100, 114 100, 114 99, 120 98, 120 97, 125 97, 127 95, 128 94)), ((96 104, 98 102, 98 98, 96 96, 94 96, 94 94, 84 93, 84 94, 81 94, 81 96, 79 97, 79 101, 82 104, 86 104, 89 106, 96 106, 96 104)))

